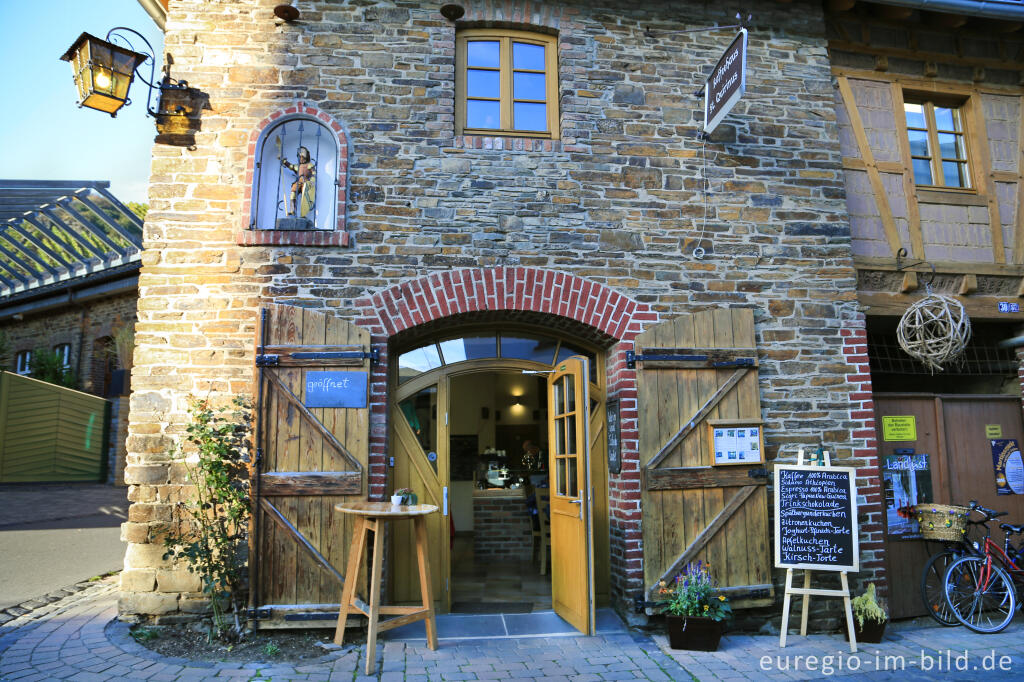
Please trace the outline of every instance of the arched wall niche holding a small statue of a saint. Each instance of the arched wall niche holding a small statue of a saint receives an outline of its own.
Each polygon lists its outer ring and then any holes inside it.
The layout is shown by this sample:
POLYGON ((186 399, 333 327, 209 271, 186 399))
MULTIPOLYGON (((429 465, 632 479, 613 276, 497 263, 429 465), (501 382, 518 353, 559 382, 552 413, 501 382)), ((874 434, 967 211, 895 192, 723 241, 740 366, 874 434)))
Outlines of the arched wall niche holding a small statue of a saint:
POLYGON ((338 221, 338 143, 308 116, 286 117, 256 147, 252 227, 334 229, 338 221))

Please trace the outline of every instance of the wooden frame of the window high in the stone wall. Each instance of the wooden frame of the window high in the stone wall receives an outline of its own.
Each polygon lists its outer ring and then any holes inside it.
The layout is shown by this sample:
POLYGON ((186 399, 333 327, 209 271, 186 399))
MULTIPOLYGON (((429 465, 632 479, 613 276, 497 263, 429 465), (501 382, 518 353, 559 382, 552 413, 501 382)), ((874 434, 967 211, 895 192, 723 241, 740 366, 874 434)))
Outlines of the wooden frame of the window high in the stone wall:
MULTIPOLYGON (((540 72, 536 72, 540 73, 540 72)), ((511 31, 502 29, 466 29, 456 35, 456 96, 455 125, 458 135, 483 135, 489 137, 534 137, 557 139, 559 136, 558 108, 558 38, 543 33, 511 31), (501 128, 466 127, 466 43, 473 40, 489 39, 500 43, 500 90, 501 128), (548 130, 516 130, 512 127, 512 43, 527 43, 545 47, 546 103, 548 104, 548 130)))

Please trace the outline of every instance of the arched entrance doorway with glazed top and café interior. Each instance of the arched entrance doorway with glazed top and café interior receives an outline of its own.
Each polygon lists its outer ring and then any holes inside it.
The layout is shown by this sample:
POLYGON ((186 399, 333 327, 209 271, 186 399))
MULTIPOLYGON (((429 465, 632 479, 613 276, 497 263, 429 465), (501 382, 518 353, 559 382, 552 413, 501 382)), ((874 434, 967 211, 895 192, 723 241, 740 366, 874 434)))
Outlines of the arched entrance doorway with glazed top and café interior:
MULTIPOLYGON (((584 590, 571 601, 578 615, 563 617, 592 632, 593 609, 610 591, 604 372, 597 350, 516 329, 449 334, 395 354, 388 491, 412 488, 421 503, 441 510, 428 528, 438 611, 554 607, 561 613, 559 603, 569 602, 552 600, 554 576, 556 586, 584 590), (574 377, 579 400, 571 419, 564 408, 560 417, 549 410, 556 394, 549 378, 559 371, 574 377), (571 442, 586 446, 566 450, 568 424, 579 426, 571 442), (568 505, 579 523, 556 523, 562 528, 556 534, 583 534, 580 549, 561 558, 557 552, 550 558, 540 527, 556 459, 549 447, 552 428, 561 429, 561 456, 574 458, 563 460, 563 468, 569 462, 579 466, 571 479, 579 483, 572 488, 579 502, 572 503, 570 485, 554 495, 555 506, 568 505), (564 579, 570 569, 581 572, 575 563, 584 566, 582 586, 564 579)), ((412 541, 398 529, 392 537, 390 588, 396 601, 419 597, 410 578, 412 541)))

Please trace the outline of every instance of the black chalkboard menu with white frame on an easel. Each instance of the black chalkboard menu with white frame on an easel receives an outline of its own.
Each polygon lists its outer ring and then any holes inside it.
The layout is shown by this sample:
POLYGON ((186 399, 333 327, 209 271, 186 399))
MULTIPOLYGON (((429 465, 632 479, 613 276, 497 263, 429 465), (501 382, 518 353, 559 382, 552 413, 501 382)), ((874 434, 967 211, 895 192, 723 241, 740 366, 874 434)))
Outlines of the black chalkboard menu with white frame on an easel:
POLYGON ((856 470, 775 467, 775 565, 858 570, 856 470))

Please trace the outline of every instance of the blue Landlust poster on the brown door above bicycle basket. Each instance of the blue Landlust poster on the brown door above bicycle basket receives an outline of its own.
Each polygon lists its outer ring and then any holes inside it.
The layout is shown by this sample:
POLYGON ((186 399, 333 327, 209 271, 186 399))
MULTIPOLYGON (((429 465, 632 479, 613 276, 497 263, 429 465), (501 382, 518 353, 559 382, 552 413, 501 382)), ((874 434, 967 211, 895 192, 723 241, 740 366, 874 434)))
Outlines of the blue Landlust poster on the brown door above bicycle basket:
POLYGON ((897 450, 883 458, 886 524, 893 540, 918 540, 921 528, 914 505, 934 502, 931 458, 913 450, 897 450))

